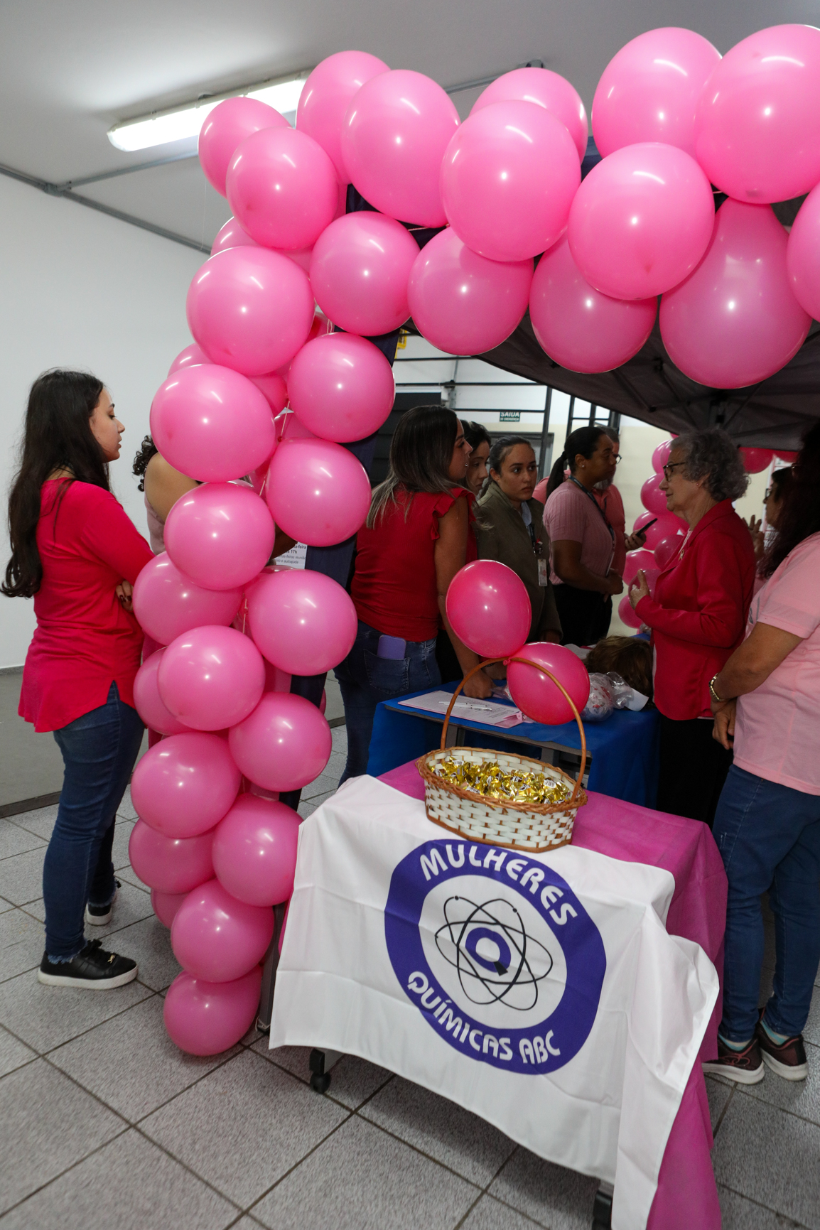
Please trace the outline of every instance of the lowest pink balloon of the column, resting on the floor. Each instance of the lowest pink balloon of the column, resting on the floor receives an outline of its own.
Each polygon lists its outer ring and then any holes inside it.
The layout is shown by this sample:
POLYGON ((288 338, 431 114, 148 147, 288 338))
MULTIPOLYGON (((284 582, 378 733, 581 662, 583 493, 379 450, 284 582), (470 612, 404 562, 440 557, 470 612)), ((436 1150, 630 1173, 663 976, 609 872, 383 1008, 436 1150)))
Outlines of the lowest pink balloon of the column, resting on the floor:
POLYGON ((183 969, 168 986, 162 1005, 171 1042, 188 1055, 230 1050, 253 1025, 261 989, 258 966, 229 983, 209 983, 183 969))

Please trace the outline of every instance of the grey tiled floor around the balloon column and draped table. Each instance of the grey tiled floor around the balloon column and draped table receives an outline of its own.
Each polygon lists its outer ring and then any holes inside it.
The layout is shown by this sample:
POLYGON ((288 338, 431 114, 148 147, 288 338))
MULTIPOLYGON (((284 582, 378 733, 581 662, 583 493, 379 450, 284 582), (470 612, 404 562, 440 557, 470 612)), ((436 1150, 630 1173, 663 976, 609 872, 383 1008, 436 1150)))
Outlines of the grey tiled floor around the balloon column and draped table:
MULTIPOLYGON (((302 815, 334 788, 344 734, 302 815)), ((41 986, 55 811, 0 820, 1 1230, 589 1230, 593 1180, 360 1059, 342 1059, 320 1097, 307 1050, 270 1052, 256 1032, 210 1059, 177 1050, 162 995, 179 967, 128 865, 129 796, 114 841, 123 887, 95 935, 139 959, 139 980, 108 994, 41 986)), ((707 1079, 724 1230, 820 1230, 820 993, 806 1041, 804 1084, 707 1079)))

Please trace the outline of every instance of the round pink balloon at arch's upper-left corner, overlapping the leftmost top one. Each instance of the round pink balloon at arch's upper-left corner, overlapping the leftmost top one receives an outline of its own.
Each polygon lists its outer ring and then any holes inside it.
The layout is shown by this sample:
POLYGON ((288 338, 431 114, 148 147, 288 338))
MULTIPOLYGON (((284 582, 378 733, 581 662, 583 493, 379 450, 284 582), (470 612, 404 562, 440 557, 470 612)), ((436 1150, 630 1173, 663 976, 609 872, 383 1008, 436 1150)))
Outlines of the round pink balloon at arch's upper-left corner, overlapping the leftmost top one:
POLYGON ((226 183, 234 215, 266 247, 312 247, 336 218, 333 164, 312 137, 295 128, 266 128, 243 140, 226 183))

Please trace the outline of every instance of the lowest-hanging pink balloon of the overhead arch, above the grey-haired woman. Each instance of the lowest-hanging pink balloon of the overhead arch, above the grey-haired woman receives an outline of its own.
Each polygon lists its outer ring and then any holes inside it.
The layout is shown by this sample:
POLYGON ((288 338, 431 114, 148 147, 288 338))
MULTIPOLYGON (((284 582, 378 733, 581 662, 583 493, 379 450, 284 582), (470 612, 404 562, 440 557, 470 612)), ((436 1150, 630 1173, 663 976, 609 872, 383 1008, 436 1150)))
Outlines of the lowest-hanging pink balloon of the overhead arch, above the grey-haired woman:
POLYGON ((691 380, 739 389, 779 371, 811 317, 792 294, 786 231, 768 205, 724 200, 697 269, 660 301, 660 335, 691 380))

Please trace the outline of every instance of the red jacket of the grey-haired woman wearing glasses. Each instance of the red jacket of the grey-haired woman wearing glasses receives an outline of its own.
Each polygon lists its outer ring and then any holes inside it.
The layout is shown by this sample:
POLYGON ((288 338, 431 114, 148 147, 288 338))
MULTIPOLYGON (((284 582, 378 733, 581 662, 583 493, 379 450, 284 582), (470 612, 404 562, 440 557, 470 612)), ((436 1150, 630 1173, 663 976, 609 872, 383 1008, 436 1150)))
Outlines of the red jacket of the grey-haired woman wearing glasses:
POLYGON ((665 717, 712 716, 709 679, 744 638, 754 583, 749 526, 723 499, 690 530, 654 598, 636 606, 652 629, 655 705, 665 717))

